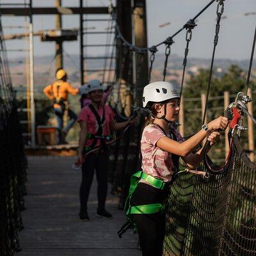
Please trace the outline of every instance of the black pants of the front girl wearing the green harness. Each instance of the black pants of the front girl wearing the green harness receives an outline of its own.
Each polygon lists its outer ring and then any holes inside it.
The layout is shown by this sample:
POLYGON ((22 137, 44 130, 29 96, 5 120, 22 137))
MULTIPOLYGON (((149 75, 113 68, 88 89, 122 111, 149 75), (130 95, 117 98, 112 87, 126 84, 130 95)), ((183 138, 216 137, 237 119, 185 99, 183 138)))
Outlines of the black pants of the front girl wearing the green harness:
MULTIPOLYGON (((163 204, 168 197, 168 190, 157 189, 145 183, 139 183, 135 189, 131 205, 163 204)), ((161 256, 163 253, 165 214, 134 214, 138 228, 143 256, 161 256)))

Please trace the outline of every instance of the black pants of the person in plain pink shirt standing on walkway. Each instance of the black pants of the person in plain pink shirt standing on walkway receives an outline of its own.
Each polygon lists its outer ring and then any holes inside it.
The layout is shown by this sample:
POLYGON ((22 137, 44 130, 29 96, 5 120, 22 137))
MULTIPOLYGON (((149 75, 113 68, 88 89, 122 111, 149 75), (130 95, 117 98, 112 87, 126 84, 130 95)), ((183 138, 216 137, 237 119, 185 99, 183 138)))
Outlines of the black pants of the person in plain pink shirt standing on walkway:
POLYGON ((105 209, 105 202, 108 193, 108 163, 109 153, 89 154, 82 165, 82 182, 80 186, 80 207, 87 209, 87 201, 92 186, 94 170, 98 182, 97 196, 98 209, 105 209))

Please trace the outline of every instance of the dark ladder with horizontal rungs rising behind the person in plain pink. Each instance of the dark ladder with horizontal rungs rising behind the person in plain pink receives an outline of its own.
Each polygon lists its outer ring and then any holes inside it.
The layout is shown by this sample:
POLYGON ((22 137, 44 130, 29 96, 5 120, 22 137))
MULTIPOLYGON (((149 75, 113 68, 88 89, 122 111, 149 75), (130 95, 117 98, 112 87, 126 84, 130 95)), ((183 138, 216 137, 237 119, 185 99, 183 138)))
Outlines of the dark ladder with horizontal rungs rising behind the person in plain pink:
MULTIPOLYGON (((82 0, 80 7, 84 7, 82 0)), ((99 79, 104 86, 115 83, 115 20, 109 14, 83 14, 80 25, 80 61, 83 73, 81 74, 81 84, 86 84, 91 79, 99 79)))

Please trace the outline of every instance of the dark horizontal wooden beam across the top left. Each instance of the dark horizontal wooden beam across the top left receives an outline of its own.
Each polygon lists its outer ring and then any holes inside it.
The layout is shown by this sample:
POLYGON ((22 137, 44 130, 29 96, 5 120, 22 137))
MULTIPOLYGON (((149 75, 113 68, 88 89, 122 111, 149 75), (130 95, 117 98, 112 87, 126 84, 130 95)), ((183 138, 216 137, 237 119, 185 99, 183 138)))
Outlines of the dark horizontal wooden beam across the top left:
MULTIPOLYGON (((32 15, 56 15, 56 14, 108 14, 108 7, 43 7, 31 8, 32 15)), ((3 8, 1 15, 29 16, 29 8, 3 8)))

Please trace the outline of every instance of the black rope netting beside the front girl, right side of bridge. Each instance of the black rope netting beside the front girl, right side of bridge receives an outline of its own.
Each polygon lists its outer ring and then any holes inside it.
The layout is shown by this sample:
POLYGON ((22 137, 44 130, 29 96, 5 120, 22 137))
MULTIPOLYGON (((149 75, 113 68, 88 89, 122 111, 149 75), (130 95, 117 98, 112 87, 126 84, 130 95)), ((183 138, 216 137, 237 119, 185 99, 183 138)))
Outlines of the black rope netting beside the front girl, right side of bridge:
POLYGON ((256 165, 237 135, 233 147, 225 173, 207 179, 183 172, 173 181, 163 255, 255 255, 256 165))

